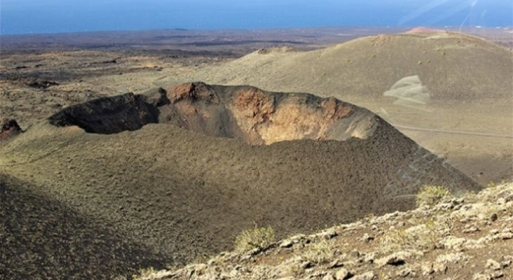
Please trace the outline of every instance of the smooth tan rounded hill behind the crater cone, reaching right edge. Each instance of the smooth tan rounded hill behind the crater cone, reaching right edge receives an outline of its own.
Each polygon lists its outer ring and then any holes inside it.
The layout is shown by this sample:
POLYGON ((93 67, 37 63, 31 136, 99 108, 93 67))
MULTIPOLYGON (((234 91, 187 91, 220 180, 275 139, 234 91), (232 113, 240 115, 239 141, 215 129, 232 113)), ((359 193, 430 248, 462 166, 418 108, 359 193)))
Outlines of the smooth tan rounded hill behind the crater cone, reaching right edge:
POLYGON ((166 76, 311 92, 367 108, 486 186, 513 178, 513 53, 483 38, 415 29, 308 52, 268 48, 166 76))

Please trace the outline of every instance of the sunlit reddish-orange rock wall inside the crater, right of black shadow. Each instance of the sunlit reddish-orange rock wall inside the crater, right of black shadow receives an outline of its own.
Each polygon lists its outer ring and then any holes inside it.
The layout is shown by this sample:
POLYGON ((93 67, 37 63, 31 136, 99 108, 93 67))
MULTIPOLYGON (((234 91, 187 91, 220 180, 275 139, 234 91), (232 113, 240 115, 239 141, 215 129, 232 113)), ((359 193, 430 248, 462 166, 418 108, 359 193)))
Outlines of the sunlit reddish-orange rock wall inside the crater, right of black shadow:
POLYGON ((240 138, 252 145, 299 139, 364 139, 374 127, 371 118, 364 118, 371 114, 367 110, 313 94, 187 83, 168 89, 167 97, 181 127, 216 137, 240 138), (223 129, 212 131, 206 123, 223 129))

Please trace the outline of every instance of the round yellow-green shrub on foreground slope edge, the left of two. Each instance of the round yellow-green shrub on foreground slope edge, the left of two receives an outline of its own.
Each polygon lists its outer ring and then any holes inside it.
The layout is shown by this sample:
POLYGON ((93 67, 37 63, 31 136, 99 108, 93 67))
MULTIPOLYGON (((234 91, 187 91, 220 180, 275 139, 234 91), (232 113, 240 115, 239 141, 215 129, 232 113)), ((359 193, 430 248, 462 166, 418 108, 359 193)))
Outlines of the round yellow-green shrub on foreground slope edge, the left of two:
POLYGON ((235 237, 235 251, 244 253, 253 249, 266 248, 273 243, 275 232, 273 228, 250 228, 235 237))

